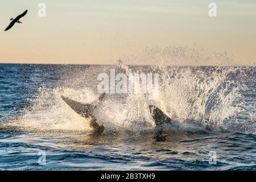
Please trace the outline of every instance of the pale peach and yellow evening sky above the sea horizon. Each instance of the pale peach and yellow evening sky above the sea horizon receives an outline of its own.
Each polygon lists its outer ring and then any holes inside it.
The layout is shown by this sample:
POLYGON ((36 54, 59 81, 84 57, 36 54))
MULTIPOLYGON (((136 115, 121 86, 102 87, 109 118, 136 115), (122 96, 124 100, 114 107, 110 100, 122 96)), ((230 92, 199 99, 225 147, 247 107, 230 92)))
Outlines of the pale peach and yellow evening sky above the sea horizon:
POLYGON ((254 65, 255 10, 256 0, 1 0, 0 63, 106 64, 146 47, 196 44, 254 65), (3 31, 26 9, 22 24, 3 31))

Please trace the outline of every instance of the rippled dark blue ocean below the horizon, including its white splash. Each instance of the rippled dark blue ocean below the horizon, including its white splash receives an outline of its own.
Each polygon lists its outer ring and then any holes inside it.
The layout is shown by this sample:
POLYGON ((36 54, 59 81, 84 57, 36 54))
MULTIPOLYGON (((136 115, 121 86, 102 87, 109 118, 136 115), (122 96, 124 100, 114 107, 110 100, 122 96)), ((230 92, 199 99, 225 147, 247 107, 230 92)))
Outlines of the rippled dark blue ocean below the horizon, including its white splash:
POLYGON ((255 170, 255 83, 255 67, 0 64, 0 169, 255 170), (159 73, 159 97, 107 94, 95 137, 60 96, 97 100, 110 68, 159 73), (157 132, 149 104, 179 127, 157 132))

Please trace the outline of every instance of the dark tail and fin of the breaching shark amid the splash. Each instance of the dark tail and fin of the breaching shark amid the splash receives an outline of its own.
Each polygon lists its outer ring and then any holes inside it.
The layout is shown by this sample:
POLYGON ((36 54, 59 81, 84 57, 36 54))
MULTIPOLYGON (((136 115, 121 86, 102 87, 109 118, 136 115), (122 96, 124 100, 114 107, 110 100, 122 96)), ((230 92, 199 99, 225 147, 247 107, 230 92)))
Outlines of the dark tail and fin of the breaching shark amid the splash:
MULTIPOLYGON (((71 100, 68 97, 61 96, 64 102, 67 103, 71 109, 73 109, 77 114, 81 117, 90 119, 90 127, 93 130, 93 135, 101 135, 105 129, 103 125, 100 125, 97 119, 94 117, 94 109, 97 108, 97 105, 100 104, 104 98, 105 93, 101 94, 97 101, 92 102, 91 104, 83 104, 78 101, 71 100)), ((163 124, 168 124, 172 126, 176 126, 176 123, 168 117, 162 110, 154 105, 149 105, 150 113, 152 118, 155 121, 156 129, 160 129, 163 124)))

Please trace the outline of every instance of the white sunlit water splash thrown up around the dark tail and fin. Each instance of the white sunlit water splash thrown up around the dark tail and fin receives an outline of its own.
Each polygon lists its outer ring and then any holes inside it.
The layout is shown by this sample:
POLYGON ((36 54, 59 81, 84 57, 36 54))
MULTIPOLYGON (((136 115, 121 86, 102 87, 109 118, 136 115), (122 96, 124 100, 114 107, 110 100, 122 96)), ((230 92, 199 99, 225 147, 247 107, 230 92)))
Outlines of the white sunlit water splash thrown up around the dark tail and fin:
POLYGON ((225 54, 209 54, 204 49, 198 51, 187 47, 169 47, 164 51, 154 48, 147 51, 143 59, 133 57, 131 61, 142 64, 154 61, 157 65, 122 63, 131 63, 130 60, 126 58, 117 64, 91 65, 84 69, 77 69, 76 66, 59 69, 56 75, 59 81, 51 86, 40 86, 36 96, 31 98, 32 105, 26 107, 22 116, 11 123, 40 131, 89 132, 88 121, 65 105, 60 96, 85 103, 96 100, 99 95, 97 75, 109 73, 110 68, 115 68, 116 73, 126 75, 159 73, 160 92, 155 101, 148 100, 142 92, 109 94, 108 99, 94 111, 98 121, 107 130, 139 131, 154 128, 148 110, 148 105, 153 103, 185 130, 193 126, 213 131, 255 133, 255 68, 195 66, 212 64, 216 60, 229 65, 230 59, 225 54), (188 63, 193 66, 181 66, 188 63))

